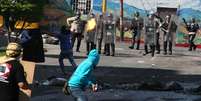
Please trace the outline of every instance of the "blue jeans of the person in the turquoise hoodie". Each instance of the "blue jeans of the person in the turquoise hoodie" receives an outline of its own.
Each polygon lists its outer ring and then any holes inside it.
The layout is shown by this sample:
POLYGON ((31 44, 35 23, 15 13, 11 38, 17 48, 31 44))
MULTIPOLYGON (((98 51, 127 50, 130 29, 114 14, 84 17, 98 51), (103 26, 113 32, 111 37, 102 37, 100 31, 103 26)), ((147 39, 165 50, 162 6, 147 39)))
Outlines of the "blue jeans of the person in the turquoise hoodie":
POLYGON ((81 88, 70 88, 70 94, 73 96, 74 101, 88 101, 87 96, 81 88))

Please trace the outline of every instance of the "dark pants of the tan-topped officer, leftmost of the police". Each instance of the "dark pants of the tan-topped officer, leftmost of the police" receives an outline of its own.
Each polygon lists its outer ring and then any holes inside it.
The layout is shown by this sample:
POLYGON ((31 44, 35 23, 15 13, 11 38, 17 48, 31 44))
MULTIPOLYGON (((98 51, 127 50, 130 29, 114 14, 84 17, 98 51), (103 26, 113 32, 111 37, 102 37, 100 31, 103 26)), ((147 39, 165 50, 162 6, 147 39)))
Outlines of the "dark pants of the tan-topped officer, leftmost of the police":
POLYGON ((72 47, 74 47, 75 40, 77 38, 77 48, 76 51, 80 51, 80 45, 82 41, 82 34, 81 33, 73 33, 72 34, 72 47))

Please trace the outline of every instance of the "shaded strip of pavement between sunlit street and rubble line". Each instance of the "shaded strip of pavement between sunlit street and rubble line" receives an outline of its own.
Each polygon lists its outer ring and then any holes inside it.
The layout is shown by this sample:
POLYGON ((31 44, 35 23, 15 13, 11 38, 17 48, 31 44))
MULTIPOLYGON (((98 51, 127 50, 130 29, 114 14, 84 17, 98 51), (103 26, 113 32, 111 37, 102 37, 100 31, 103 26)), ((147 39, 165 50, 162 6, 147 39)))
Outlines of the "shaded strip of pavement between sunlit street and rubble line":
MULTIPOLYGON (((68 73, 64 76, 59 66, 36 65, 34 80, 46 80, 48 77, 65 77, 68 78, 73 73, 73 68, 68 66, 65 68, 68 73)), ((112 84, 134 83, 143 81, 179 81, 179 82, 199 82, 201 75, 182 75, 178 71, 165 69, 145 69, 145 68, 128 68, 128 67, 107 67, 98 66, 93 75, 101 82, 112 84)))

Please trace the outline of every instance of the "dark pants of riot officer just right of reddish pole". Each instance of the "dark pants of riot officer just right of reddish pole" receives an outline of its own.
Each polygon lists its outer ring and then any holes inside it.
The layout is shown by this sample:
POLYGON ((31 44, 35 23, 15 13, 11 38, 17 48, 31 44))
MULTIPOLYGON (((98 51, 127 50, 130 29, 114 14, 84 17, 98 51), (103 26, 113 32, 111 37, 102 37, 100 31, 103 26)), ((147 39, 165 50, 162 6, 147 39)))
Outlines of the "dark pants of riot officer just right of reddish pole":
POLYGON ((131 48, 134 47, 135 41, 137 41, 137 47, 136 47, 136 49, 137 49, 137 50, 140 49, 140 36, 141 36, 140 30, 135 30, 135 31, 133 32, 131 48))

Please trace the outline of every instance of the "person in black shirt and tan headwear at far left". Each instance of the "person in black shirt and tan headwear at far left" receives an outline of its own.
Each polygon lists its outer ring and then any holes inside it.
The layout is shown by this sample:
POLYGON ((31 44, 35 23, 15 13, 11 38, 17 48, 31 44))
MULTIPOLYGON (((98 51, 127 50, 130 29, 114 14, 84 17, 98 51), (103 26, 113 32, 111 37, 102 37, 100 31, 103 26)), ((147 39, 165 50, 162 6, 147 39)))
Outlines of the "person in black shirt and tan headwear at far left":
POLYGON ((1 101, 19 100, 20 90, 31 96, 31 90, 25 79, 23 66, 18 58, 21 55, 21 47, 17 43, 9 43, 6 48, 6 56, 0 59, 0 99, 1 101))

